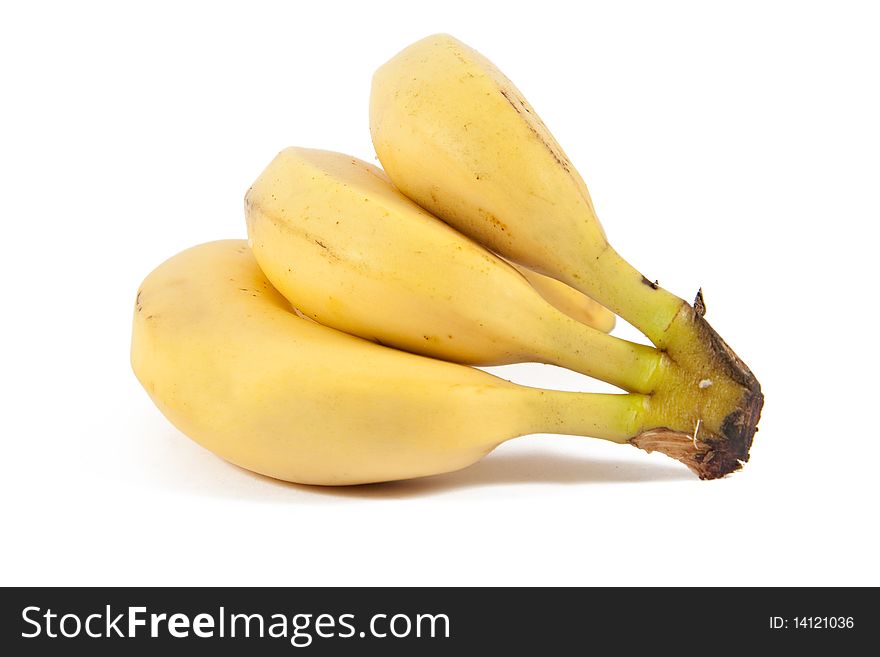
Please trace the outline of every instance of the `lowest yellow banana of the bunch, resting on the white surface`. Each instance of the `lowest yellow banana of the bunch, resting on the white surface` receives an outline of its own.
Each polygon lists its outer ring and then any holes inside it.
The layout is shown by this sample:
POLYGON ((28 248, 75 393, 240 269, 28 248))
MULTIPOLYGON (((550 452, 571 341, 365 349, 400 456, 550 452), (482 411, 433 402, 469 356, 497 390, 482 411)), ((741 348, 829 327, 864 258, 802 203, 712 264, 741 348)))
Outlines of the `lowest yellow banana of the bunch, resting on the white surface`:
POLYGON ((712 456, 669 442, 639 394, 517 386, 303 319, 247 244, 184 251, 154 270, 134 310, 132 367, 181 431, 241 467, 306 484, 448 472, 535 432, 660 446, 695 472, 712 456), (664 446, 665 445, 665 446, 664 446))

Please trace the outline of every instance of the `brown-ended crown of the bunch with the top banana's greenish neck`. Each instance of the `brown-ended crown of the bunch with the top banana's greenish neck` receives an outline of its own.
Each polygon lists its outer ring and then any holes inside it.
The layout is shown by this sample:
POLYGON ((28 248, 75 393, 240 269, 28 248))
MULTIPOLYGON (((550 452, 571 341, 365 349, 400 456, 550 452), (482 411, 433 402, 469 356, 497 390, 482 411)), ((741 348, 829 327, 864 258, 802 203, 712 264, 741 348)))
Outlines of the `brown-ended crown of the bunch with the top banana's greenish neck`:
POLYGON ((589 275, 569 284, 633 324, 663 352, 649 386, 649 415, 630 442, 679 459, 701 478, 737 470, 749 458, 764 404, 755 376, 706 322, 699 304, 694 308, 660 288, 610 246, 588 264, 589 275), (697 433, 699 441, 692 438, 697 433))

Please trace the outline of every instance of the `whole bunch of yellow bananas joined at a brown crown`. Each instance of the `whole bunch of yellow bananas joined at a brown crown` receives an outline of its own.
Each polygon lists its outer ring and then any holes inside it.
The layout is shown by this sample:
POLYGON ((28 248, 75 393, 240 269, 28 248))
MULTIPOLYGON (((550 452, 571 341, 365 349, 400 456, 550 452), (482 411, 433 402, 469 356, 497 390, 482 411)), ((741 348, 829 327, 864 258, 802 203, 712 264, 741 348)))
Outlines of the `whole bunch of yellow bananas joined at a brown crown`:
POLYGON ((132 364, 177 427, 308 484, 449 472, 536 432, 658 450, 706 479, 748 460, 757 380, 701 298, 608 244, 586 185, 488 60, 445 35, 410 46, 376 73, 370 126, 384 172, 288 148, 247 192, 249 243, 194 247, 141 285, 132 364), (609 335, 608 309, 654 347, 609 335), (627 393, 470 367, 525 361, 627 393))

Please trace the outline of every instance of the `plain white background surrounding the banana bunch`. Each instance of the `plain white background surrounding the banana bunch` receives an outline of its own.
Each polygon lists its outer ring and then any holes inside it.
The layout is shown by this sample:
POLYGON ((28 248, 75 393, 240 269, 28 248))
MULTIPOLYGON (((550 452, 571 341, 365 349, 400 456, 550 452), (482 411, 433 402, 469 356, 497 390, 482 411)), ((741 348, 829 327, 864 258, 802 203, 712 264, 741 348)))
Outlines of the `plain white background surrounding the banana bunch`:
POLYGON ((880 584, 875 4, 10 4, 0 583, 880 584), (373 70, 440 31, 537 107, 619 251, 703 287, 767 398, 744 471, 532 436, 448 476, 308 488, 219 460, 141 390, 141 279, 244 237, 281 148, 372 159, 373 70))

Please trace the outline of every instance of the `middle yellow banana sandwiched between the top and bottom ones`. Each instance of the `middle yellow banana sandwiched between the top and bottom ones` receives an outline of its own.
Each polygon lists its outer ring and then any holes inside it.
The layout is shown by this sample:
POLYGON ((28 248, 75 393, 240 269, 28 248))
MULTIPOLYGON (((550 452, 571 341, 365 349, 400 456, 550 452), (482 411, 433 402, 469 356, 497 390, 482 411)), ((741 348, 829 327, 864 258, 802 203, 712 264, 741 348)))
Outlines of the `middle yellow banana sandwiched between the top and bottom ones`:
POLYGON ((366 162, 285 149, 248 190, 245 213, 266 277, 322 324, 458 363, 540 361, 653 389, 660 352, 564 314, 366 162))

